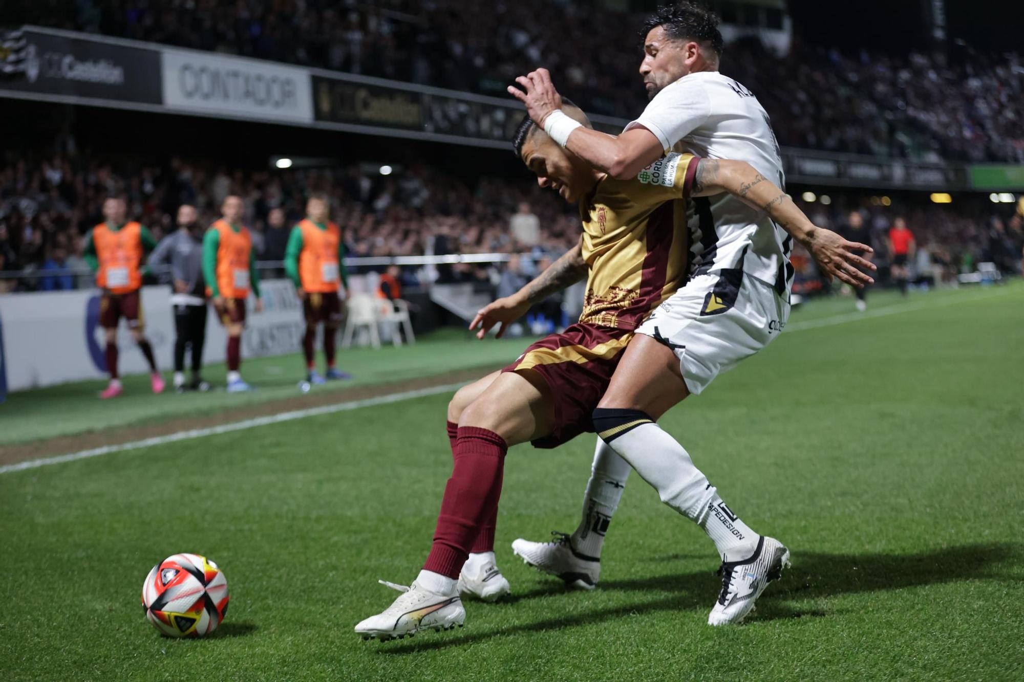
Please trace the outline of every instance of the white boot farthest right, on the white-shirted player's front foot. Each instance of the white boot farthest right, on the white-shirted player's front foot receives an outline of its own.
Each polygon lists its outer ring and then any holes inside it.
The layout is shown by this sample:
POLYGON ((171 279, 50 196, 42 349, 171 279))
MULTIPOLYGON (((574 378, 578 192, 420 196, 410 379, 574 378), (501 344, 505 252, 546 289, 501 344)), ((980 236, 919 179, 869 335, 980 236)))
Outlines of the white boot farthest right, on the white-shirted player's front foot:
POLYGON ((761 536, 757 549, 746 558, 730 561, 722 557, 718 574, 722 577, 722 592, 715 608, 708 615, 708 625, 721 626, 739 623, 754 610, 754 602, 764 592, 768 583, 782 577, 782 569, 790 567, 790 550, 774 538, 761 536))

